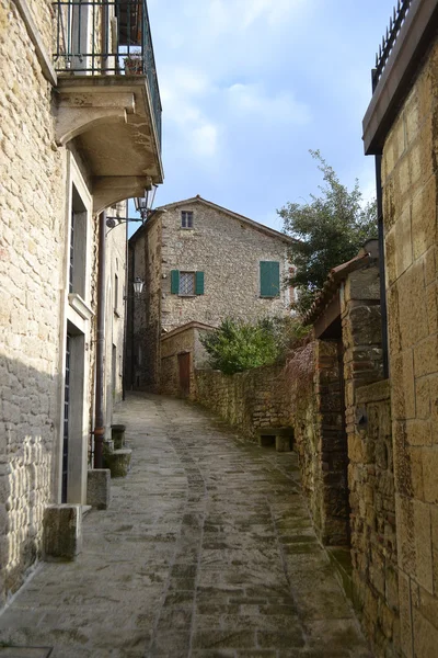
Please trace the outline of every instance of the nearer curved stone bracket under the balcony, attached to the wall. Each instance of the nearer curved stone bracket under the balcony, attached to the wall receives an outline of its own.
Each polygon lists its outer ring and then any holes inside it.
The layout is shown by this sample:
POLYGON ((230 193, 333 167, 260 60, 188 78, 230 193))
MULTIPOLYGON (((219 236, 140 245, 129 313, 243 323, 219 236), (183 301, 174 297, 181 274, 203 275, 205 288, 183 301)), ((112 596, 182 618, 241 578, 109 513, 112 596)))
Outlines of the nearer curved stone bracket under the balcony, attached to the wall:
POLYGON ((127 123, 136 109, 131 92, 95 93, 59 90, 56 121, 56 141, 65 146, 97 124, 127 123))

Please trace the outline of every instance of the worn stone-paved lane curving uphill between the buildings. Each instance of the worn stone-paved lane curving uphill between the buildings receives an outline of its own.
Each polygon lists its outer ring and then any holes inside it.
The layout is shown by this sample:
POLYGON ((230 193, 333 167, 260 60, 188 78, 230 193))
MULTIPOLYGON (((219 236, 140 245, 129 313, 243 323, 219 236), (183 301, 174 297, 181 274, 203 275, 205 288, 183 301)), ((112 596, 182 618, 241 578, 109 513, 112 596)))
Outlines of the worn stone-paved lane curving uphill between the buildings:
POLYGON ((132 468, 111 508, 85 517, 77 561, 41 565, 0 616, 0 658, 12 645, 50 658, 371 656, 293 453, 158 396, 129 397, 116 422, 132 468))

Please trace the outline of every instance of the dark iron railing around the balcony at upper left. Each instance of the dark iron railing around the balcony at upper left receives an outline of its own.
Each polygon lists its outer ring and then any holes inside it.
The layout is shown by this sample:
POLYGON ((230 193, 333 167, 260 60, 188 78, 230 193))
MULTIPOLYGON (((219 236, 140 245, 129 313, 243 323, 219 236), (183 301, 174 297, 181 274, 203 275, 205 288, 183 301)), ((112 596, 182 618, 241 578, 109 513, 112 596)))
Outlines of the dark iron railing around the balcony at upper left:
POLYGON ((146 76, 161 147, 161 100, 146 0, 58 0, 54 63, 58 73, 146 76))

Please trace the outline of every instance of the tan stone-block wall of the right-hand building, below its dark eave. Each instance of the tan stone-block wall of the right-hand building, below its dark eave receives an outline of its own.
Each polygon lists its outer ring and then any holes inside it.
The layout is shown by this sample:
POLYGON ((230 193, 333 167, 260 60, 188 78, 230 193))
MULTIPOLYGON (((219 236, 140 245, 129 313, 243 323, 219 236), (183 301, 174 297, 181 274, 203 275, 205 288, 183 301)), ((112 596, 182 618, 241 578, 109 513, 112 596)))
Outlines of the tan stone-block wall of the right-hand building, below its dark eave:
POLYGON ((401 644, 438 646, 438 42, 383 148, 401 644))

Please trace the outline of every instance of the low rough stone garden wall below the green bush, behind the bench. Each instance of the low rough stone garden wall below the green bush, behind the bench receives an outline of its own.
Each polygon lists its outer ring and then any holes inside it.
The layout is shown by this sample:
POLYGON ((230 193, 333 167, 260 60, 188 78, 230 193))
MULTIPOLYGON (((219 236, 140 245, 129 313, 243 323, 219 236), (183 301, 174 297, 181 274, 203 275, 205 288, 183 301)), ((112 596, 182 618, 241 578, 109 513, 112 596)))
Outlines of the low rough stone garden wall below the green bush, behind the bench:
POLYGON ((263 366, 224 375, 195 372, 194 399, 255 441, 257 428, 290 426, 288 387, 283 366, 263 366))

